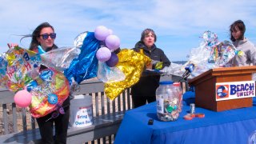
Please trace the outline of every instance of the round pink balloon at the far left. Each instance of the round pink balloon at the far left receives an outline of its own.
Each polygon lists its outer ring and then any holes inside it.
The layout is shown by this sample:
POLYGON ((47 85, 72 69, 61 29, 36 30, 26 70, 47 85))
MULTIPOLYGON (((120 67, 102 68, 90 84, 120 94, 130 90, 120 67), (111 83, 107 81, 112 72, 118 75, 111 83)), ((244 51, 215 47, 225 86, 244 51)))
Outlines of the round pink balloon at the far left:
POLYGON ((14 95, 14 102, 16 103, 17 106, 20 106, 20 107, 30 106, 31 100, 32 100, 32 95, 27 90, 19 90, 14 95))

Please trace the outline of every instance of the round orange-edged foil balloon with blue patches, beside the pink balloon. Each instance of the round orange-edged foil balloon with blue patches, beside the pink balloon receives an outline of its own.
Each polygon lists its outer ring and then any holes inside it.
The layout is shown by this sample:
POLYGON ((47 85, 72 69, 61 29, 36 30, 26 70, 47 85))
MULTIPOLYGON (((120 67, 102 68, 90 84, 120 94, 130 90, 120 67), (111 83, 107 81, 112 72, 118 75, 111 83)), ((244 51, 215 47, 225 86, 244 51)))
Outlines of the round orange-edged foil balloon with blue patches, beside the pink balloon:
POLYGON ((40 118, 58 110, 58 106, 70 95, 70 85, 64 74, 57 70, 41 70, 35 79, 38 86, 32 87, 32 102, 30 113, 34 118, 40 118))

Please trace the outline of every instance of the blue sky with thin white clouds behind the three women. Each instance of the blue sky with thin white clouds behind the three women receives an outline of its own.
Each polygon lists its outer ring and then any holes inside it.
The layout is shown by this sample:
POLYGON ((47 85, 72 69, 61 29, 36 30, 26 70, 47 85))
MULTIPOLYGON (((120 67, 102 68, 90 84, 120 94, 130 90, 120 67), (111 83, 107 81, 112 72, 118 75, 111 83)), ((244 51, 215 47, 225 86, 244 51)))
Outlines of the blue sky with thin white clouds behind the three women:
POLYGON ((156 46, 170 61, 186 61, 190 50, 202 42, 203 32, 229 40, 229 26, 241 19, 246 38, 256 44, 256 1, 253 0, 1 0, 0 53, 7 43, 28 48, 32 34, 42 22, 54 26, 58 47, 74 46, 74 38, 97 26, 113 30, 121 40, 121 49, 131 49, 142 30, 153 29, 156 46))

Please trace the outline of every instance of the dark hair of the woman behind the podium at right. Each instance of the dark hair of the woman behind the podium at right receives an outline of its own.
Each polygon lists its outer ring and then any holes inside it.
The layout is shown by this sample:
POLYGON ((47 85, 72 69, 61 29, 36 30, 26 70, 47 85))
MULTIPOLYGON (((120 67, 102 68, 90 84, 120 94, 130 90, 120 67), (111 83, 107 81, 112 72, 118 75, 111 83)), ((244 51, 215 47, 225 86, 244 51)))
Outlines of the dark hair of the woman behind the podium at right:
POLYGON ((238 28, 238 30, 241 31, 242 35, 240 38, 238 38, 239 40, 242 40, 244 38, 244 34, 246 32, 246 25, 244 24, 244 22, 242 22, 242 20, 237 20, 235 22, 233 22, 231 25, 230 25, 230 40, 232 42, 235 41, 234 37, 232 36, 232 32, 236 32, 236 28, 238 28))

